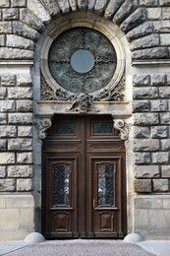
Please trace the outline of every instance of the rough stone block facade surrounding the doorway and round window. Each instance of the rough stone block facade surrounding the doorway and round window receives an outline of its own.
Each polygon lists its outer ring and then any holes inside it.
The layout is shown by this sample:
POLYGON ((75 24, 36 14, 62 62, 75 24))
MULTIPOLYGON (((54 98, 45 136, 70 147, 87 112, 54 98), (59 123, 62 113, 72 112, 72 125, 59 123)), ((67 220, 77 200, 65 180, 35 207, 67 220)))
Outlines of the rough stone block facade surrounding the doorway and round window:
POLYGON ((168 0, 0 1, 0 239, 40 231, 37 131, 54 114, 53 106, 39 114, 36 105, 40 50, 61 28, 90 23, 115 32, 125 52, 125 101, 132 110, 120 104, 113 115, 133 124, 126 144, 128 232, 169 237, 169 14, 168 0))

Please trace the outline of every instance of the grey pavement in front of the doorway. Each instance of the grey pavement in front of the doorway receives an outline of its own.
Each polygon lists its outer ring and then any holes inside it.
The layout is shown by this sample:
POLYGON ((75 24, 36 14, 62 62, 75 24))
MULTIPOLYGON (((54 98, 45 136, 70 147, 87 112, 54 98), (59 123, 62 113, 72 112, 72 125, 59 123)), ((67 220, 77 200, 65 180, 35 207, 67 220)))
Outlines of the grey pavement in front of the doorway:
POLYGON ((128 243, 121 240, 0 240, 0 255, 7 256, 170 256, 170 240, 128 243))

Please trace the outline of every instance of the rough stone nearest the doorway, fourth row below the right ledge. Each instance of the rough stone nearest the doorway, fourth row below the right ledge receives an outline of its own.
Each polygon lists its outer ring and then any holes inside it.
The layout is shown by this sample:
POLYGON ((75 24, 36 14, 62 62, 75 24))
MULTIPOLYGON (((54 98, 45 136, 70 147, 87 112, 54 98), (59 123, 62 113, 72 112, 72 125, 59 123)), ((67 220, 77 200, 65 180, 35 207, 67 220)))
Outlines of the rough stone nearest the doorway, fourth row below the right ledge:
POLYGON ((138 113, 134 114, 136 125, 153 125, 159 123, 159 116, 157 113, 138 113))

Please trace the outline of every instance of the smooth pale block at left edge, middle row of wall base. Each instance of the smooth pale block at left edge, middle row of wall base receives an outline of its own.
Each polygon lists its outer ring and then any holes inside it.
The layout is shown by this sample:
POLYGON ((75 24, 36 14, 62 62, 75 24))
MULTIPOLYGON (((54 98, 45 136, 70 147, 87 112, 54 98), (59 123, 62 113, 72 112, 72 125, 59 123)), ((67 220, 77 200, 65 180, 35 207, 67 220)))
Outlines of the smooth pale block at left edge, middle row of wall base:
MULTIPOLYGON (((18 229, 19 226, 19 209, 2 209, 0 210, 0 229, 18 229)), ((2 232, 3 232, 2 231, 2 232)))

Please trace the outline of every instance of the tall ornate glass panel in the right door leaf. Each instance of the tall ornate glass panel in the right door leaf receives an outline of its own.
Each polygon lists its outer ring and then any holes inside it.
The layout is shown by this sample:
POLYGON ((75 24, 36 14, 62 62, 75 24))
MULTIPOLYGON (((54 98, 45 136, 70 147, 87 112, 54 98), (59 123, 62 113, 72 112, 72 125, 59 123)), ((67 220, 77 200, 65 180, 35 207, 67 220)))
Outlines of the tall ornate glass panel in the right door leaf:
POLYGON ((98 206, 114 205, 114 164, 101 162, 97 164, 98 206))

